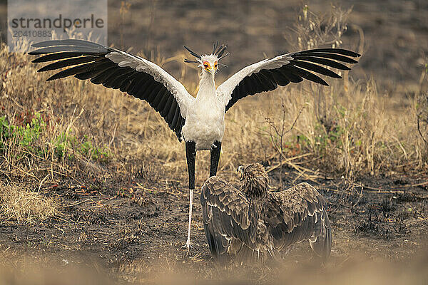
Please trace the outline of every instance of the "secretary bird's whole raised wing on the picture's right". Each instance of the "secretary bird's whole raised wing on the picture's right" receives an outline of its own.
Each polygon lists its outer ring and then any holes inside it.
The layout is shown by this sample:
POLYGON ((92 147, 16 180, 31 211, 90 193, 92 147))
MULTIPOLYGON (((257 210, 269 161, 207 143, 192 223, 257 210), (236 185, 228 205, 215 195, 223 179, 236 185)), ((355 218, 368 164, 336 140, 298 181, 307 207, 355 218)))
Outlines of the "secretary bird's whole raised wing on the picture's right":
POLYGON ((358 56, 360 54, 341 48, 318 48, 267 58, 243 68, 228 78, 218 86, 217 95, 223 98, 227 112, 233 104, 245 96, 274 90, 277 86, 286 86, 290 82, 298 83, 307 79, 328 86, 327 82, 314 73, 341 78, 324 66, 349 71, 350 68, 340 62, 357 63, 353 58, 358 56))

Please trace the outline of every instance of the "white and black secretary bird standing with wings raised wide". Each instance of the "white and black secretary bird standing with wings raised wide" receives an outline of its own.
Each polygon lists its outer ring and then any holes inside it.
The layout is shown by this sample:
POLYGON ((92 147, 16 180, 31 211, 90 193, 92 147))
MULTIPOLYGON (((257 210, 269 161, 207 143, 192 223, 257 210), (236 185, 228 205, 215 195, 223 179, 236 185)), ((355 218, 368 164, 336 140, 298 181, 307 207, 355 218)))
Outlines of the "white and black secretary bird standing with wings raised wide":
POLYGON ((67 76, 107 88, 119 89, 141 100, 146 100, 161 116, 179 141, 185 141, 185 155, 189 178, 189 223, 188 239, 183 247, 190 249, 190 224, 192 219, 193 190, 195 189, 195 157, 197 150, 210 150, 210 177, 217 173, 221 142, 225 133, 225 112, 239 99, 298 83, 307 79, 328 86, 322 78, 312 72, 332 78, 341 78, 337 73, 323 66, 348 71, 340 63, 357 63, 360 56, 341 48, 318 48, 296 53, 286 53, 250 66, 230 76, 215 88, 215 73, 219 61, 228 56, 227 46, 214 45, 213 52, 201 56, 186 48, 201 68, 199 90, 196 97, 160 66, 141 56, 120 51, 117 48, 101 46, 98 43, 77 39, 43 41, 33 45, 31 55, 44 55, 34 63, 54 61, 39 71, 65 68, 47 81, 67 76))

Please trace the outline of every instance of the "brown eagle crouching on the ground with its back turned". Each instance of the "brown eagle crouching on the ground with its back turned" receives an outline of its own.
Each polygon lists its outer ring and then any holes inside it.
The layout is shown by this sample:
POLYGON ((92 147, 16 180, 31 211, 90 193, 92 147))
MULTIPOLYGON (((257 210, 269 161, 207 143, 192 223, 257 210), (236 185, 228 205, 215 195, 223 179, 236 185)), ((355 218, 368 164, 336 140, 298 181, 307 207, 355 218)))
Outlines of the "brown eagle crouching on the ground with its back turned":
POLYGON ((282 249, 304 240, 323 261, 330 256, 327 204, 314 187, 300 183, 270 192, 262 165, 241 165, 238 171, 239 190, 213 176, 200 194, 205 236, 215 259, 227 261, 228 254, 238 263, 277 258, 282 249))

